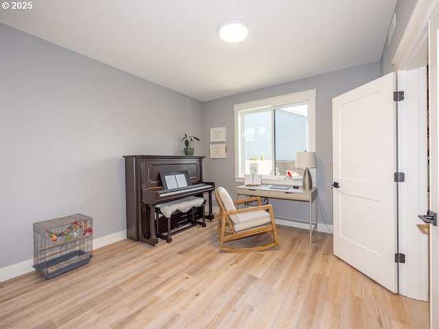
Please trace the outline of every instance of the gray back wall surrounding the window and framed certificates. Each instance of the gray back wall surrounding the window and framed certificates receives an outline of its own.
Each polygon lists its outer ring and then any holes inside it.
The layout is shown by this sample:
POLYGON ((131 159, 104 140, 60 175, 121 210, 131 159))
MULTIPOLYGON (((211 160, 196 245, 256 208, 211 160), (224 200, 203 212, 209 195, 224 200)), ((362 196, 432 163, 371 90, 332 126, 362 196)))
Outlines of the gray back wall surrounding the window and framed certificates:
MULTIPOLYGON (((346 91, 375 80, 380 76, 379 62, 357 66, 305 80, 289 82, 270 88, 254 90, 222 99, 203 103, 205 127, 204 141, 209 141, 210 127, 226 127, 226 159, 205 160, 204 179, 213 181, 217 186, 224 186, 229 193, 235 195, 235 123, 233 105, 278 95, 296 93, 303 90, 317 89, 316 97, 316 155, 317 155, 317 187, 319 193, 318 221, 333 223, 332 213, 332 99, 346 91), (323 221, 324 220, 324 221, 323 221)), ((209 145, 205 143, 204 153, 208 154, 209 145)), ((270 200, 274 204, 275 215, 291 219, 307 220, 309 212, 307 204, 270 200)))

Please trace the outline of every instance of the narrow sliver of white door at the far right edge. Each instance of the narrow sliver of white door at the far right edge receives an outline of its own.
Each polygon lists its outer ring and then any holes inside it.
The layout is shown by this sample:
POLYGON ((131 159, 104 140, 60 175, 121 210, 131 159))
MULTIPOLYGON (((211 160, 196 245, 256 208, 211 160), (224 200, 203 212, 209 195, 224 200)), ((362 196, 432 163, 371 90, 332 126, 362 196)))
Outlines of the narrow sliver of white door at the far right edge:
MULTIPOLYGON (((429 20, 429 150, 430 208, 439 214, 439 114, 438 38, 439 9, 429 20)), ((429 225, 430 245, 430 328, 439 328, 439 226, 429 225)))

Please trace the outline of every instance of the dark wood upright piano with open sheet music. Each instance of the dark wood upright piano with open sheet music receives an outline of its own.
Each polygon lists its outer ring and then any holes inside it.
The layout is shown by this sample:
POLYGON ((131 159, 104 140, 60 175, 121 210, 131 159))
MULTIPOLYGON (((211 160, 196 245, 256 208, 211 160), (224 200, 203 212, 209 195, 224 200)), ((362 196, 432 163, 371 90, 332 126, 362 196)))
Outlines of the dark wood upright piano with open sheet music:
MULTIPOLYGON (((158 243, 157 233, 165 232, 167 226, 156 226, 155 206, 183 197, 203 197, 209 194, 209 214, 213 219, 212 191, 215 183, 203 182, 202 160, 204 156, 123 156, 125 158, 126 181, 126 232, 128 239, 149 245, 158 243), (183 191, 163 189, 160 173, 188 171, 192 186, 183 191)), ((195 209, 195 218, 202 218, 202 208, 195 209)), ((173 228, 187 228, 191 225, 188 214, 171 217, 173 228)))

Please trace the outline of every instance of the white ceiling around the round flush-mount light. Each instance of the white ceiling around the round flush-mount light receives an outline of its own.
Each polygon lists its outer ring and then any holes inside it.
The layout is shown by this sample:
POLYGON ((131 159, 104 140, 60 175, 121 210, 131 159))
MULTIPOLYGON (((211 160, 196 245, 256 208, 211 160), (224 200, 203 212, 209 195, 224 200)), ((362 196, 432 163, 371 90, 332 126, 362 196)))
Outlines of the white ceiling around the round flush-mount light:
MULTIPOLYGON (((8 1, 12 3, 11 1, 8 1)), ((200 101, 380 60, 396 0, 38 0, 0 23, 200 101), (242 19, 240 44, 217 38, 242 19)))

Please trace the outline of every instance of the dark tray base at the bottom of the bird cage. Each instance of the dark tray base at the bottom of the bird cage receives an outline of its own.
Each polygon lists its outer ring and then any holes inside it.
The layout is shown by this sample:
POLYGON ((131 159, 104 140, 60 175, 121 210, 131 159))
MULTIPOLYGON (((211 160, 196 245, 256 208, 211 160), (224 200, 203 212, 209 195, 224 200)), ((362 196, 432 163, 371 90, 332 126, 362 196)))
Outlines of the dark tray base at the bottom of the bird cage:
POLYGON ((49 280, 56 276, 60 276, 62 273, 88 264, 92 257, 93 255, 88 254, 83 250, 76 250, 60 257, 47 260, 44 263, 33 265, 33 267, 38 273, 49 280))

